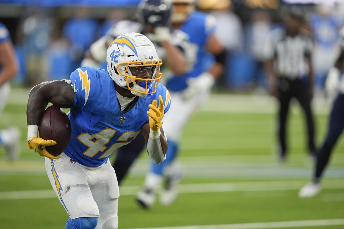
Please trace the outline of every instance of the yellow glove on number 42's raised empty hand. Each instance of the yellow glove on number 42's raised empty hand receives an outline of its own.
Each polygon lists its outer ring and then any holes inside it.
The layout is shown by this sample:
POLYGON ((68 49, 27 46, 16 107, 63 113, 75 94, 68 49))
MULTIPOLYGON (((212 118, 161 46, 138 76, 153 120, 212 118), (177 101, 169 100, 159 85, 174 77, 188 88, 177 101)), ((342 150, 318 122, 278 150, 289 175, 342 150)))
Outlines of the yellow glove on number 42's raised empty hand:
POLYGON ((149 111, 147 111, 149 127, 155 131, 160 129, 162 125, 161 119, 164 117, 164 102, 161 95, 159 95, 159 107, 157 105, 157 101, 153 100, 152 104, 149 104, 149 111))

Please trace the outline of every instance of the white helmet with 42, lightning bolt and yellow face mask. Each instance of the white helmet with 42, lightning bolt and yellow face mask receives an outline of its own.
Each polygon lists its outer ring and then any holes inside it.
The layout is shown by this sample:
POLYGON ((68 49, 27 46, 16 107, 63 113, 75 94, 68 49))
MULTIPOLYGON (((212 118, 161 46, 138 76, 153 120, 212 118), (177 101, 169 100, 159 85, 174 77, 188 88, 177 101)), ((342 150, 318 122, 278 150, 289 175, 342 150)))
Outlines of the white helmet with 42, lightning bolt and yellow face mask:
POLYGON ((111 79, 138 96, 151 97, 162 77, 162 60, 157 49, 140 33, 126 33, 112 41, 107 49, 106 64, 111 79))

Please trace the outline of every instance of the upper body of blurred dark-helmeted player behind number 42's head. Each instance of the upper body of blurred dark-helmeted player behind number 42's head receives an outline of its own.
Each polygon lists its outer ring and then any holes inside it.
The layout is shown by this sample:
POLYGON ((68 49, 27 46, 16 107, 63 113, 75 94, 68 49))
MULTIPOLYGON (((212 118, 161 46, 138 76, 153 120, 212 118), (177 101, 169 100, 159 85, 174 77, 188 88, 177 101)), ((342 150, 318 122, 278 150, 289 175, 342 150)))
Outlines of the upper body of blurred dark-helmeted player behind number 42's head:
POLYGON ((184 73, 187 62, 181 50, 185 48, 188 37, 180 30, 171 29, 171 13, 171 0, 143 0, 138 6, 136 19, 114 24, 105 36, 90 46, 81 66, 99 67, 105 62, 106 48, 117 36, 137 32, 146 35, 153 42, 159 57, 166 60, 174 74, 184 73))

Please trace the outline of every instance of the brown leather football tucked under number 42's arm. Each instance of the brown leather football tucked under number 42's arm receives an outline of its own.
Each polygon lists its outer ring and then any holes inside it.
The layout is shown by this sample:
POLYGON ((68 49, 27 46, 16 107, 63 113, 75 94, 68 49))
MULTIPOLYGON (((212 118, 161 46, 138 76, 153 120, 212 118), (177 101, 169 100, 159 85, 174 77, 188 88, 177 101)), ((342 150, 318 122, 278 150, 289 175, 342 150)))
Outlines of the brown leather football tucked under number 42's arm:
POLYGON ((47 146, 45 149, 57 156, 67 148, 72 127, 66 113, 61 108, 51 105, 44 111, 38 131, 40 138, 56 141, 56 145, 47 146))

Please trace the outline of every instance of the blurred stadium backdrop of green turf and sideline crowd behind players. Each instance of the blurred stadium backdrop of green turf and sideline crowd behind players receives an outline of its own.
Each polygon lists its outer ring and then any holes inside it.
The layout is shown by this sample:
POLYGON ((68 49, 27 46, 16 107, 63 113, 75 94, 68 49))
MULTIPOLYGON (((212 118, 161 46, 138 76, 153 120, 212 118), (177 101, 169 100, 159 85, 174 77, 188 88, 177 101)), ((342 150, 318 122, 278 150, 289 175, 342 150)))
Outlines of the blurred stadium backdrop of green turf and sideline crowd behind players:
MULTIPOLYGON (((118 20, 131 18, 138 2, 0 0, 0 22, 10 31, 20 65, 0 129, 16 125, 22 132, 19 161, 8 162, 0 149, 0 228, 65 228, 68 216, 51 188, 44 159, 26 147, 29 90, 42 81, 68 78, 89 45, 118 20)), ((344 141, 341 138, 335 147, 321 194, 298 198, 298 190, 313 172, 303 113, 292 104, 290 156, 279 164, 277 106, 266 92, 259 48, 264 35, 281 26, 284 8, 299 4, 307 20, 304 27, 314 40, 312 102, 319 146, 331 109, 324 80, 339 51, 344 4, 335 0, 197 3, 198 10, 213 13, 226 28, 218 31, 228 51, 225 75, 185 128, 180 155, 185 179, 178 201, 170 207, 156 203, 148 211, 136 205, 134 197, 148 168, 148 158, 141 154, 120 188, 119 228, 344 228, 344 141), (315 4, 321 2, 326 5, 315 4), (192 225, 196 226, 187 227, 192 225)))

